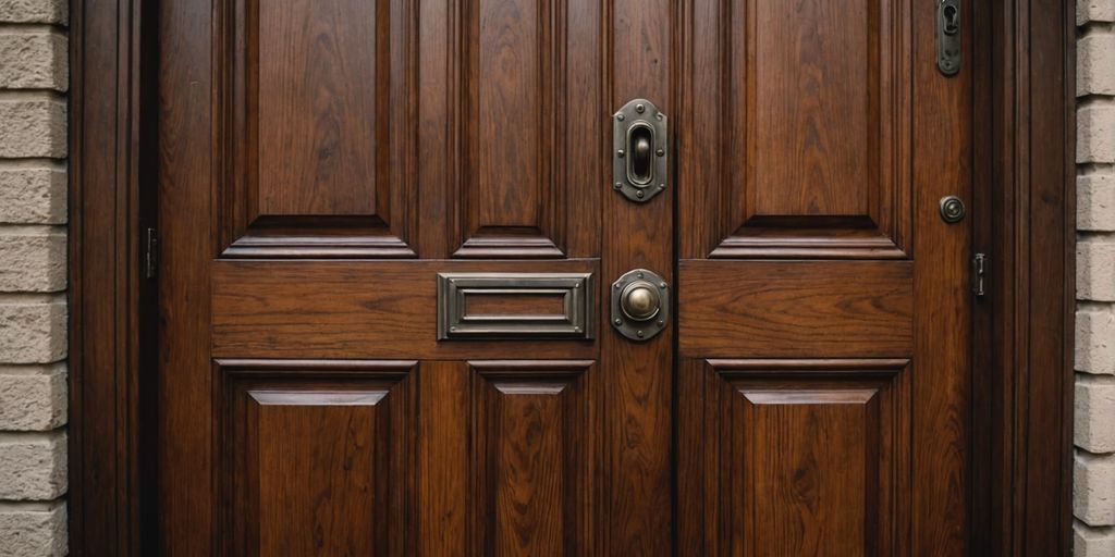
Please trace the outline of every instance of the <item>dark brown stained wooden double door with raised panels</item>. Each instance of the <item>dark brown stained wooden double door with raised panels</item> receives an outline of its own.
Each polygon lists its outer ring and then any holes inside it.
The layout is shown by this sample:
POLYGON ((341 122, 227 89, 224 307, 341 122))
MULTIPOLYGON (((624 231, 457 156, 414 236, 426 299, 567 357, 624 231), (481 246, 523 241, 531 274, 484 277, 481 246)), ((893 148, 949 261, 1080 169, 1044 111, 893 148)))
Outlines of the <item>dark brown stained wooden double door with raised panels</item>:
POLYGON ((933 17, 162 1, 161 550, 962 555, 971 77, 933 17), (643 342, 632 268, 673 293, 643 342))

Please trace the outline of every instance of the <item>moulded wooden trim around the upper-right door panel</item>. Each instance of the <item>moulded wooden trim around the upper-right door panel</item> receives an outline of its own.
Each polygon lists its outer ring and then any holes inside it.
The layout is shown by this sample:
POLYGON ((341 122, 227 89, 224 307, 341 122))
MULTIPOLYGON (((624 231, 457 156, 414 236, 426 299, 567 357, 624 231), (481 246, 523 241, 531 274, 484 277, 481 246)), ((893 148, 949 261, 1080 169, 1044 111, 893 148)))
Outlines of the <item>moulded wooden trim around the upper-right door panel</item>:
MULTIPOLYGON (((774 1, 774 0, 772 0, 774 1)), ((685 258, 906 258, 913 187, 910 1, 872 0, 866 38, 871 184, 860 215, 760 215, 755 173, 756 1, 687 3, 679 58, 680 253, 685 258), (705 110, 707 106, 719 107, 705 110), (707 148, 712 145, 715 147, 707 148)), ((783 162, 783 164, 789 164, 783 162)))

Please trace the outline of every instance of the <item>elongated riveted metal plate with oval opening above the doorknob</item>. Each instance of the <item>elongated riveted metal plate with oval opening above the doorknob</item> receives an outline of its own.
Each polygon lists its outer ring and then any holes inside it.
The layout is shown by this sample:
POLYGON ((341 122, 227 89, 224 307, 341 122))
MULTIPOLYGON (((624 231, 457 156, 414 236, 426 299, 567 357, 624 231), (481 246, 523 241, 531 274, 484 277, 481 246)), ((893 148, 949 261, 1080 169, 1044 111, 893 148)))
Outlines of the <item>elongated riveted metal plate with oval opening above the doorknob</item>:
POLYGON ((666 115, 634 99, 615 113, 612 129, 612 188, 637 203, 650 201, 667 184, 666 115))

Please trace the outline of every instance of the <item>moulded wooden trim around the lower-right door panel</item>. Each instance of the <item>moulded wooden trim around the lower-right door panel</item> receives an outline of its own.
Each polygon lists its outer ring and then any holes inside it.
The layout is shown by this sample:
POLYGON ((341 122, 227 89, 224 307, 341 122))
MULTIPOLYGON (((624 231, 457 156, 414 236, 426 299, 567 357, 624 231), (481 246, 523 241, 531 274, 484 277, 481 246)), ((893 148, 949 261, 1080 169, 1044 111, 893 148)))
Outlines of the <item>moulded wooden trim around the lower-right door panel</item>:
MULTIPOLYGON (((863 426, 870 428, 864 431, 865 453, 861 456, 869 473, 860 509, 865 525, 863 548, 869 554, 901 555, 909 547, 911 514, 905 501, 912 496, 911 360, 683 359, 679 373, 680 548, 699 548, 702 555, 756 553, 760 544, 772 543, 770 537, 782 531, 763 522, 762 514, 767 509, 756 508, 757 496, 752 489, 760 479, 770 479, 760 475, 773 473, 750 460, 766 455, 758 436, 770 431, 747 429, 758 427, 755 412, 760 408, 766 409, 768 419, 778 419, 779 414, 769 413, 778 412, 772 408, 778 405, 792 412, 863 409, 863 426)), ((803 497, 823 497, 817 495, 818 486, 808 483, 814 477, 811 470, 797 473, 809 488, 803 497)), ((769 491, 770 486, 765 489, 769 491)), ((811 515, 803 520, 795 527, 811 535, 796 539, 815 540, 818 524, 811 520, 821 519, 811 515), (811 526, 814 529, 808 529, 811 526)))

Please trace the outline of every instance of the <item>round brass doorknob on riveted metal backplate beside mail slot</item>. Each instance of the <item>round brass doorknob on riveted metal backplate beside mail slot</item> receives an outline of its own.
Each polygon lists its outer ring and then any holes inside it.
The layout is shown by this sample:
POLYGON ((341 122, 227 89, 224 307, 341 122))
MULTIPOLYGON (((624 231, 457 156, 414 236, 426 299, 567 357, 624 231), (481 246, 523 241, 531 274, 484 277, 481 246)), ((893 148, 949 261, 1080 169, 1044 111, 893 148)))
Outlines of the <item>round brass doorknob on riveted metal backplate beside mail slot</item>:
POLYGON ((670 317, 670 292, 653 271, 636 268, 612 283, 612 326, 633 341, 653 338, 670 317))

